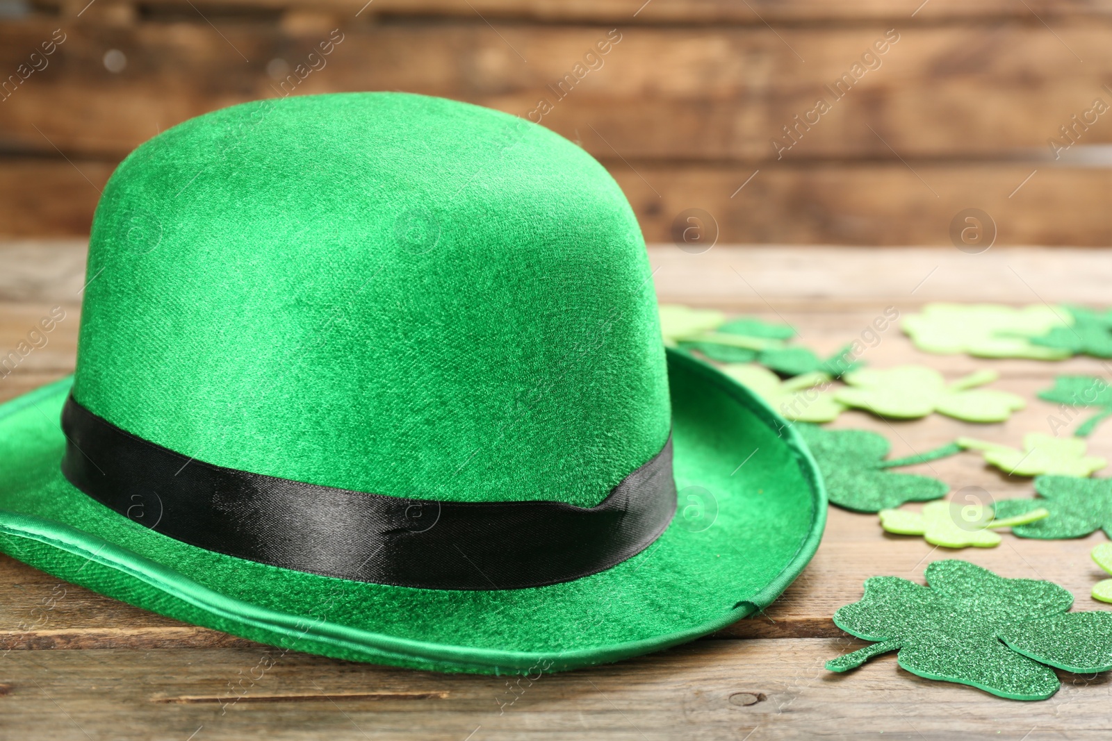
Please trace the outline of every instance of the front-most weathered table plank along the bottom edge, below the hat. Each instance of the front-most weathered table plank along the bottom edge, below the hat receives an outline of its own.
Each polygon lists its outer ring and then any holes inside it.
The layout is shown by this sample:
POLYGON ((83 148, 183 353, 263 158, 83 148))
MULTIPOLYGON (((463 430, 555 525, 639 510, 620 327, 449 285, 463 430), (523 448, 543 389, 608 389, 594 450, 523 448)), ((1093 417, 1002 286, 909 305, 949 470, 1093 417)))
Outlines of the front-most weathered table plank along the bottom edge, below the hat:
POLYGON ((921 679, 892 655, 847 674, 823 669, 860 645, 701 641, 520 683, 258 648, 20 651, 0 659, 0 708, 8 738, 51 741, 1106 738, 1106 675, 1062 673, 1056 695, 1024 703, 921 679))

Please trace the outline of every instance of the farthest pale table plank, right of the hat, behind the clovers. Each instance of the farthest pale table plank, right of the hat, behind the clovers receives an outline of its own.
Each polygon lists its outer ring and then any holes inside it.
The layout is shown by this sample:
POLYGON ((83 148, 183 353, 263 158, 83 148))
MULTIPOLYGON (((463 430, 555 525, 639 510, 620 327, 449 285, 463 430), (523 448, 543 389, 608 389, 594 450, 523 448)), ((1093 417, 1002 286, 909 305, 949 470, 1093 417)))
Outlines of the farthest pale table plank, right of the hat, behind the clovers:
MULTIPOLYGON (((648 254, 662 301, 733 311, 823 313, 886 306, 903 311, 931 301, 1104 306, 1112 284, 1106 250, 993 247, 969 254, 953 247, 719 244, 691 254, 668 244, 651 247, 648 254)), ((833 323, 822 327, 815 334, 836 329, 833 323)), ((850 324, 841 331, 862 327, 850 324)))

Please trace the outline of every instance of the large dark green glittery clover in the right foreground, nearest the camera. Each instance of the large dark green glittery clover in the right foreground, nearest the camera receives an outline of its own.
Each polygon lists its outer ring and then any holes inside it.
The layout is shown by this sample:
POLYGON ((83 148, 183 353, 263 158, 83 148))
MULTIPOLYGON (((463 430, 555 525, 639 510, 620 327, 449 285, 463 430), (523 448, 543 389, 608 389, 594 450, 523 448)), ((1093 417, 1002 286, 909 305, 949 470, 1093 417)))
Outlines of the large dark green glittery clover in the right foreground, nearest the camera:
POLYGON ((901 667, 1011 700, 1045 700, 1059 689, 1051 667, 1075 673, 1112 669, 1112 612, 1069 612, 1058 584, 1005 579, 967 561, 934 561, 926 587, 898 577, 865 581, 860 602, 834 613, 842 630, 875 641, 826 662, 856 669, 898 651, 901 667))

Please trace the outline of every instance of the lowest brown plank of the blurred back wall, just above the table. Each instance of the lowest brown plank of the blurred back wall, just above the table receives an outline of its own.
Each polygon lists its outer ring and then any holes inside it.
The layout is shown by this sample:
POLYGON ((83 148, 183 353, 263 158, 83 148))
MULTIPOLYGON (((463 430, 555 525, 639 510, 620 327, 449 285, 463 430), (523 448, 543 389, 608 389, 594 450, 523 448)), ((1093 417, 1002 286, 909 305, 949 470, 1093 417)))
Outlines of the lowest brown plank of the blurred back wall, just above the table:
MULTIPOLYGON (((698 208, 713 217, 719 243, 952 249, 954 218, 979 208, 992 217, 997 246, 1112 243, 1112 212, 1105 208, 1112 171, 1106 169, 915 163, 911 170, 901 162, 711 167, 616 158, 603 163, 649 242, 671 242, 681 212, 698 208)), ((93 169, 86 161, 76 164, 86 173, 93 169)), ((105 178, 111 170, 96 167, 105 178)), ((0 236, 87 234, 97 198, 70 163, 11 169, 0 161, 0 236)))

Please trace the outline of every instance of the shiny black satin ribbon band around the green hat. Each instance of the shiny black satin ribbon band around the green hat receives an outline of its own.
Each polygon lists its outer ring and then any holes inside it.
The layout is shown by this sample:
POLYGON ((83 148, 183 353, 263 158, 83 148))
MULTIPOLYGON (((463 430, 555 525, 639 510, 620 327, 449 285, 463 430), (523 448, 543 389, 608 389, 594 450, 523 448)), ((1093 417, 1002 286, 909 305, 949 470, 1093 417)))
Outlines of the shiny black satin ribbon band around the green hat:
POLYGON ((270 565, 423 589, 544 587, 639 553, 676 510, 672 439, 593 508, 446 502, 335 489, 192 460, 62 409, 62 473, 136 522, 270 565))

